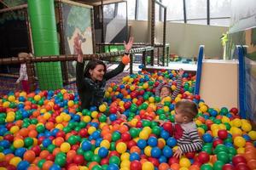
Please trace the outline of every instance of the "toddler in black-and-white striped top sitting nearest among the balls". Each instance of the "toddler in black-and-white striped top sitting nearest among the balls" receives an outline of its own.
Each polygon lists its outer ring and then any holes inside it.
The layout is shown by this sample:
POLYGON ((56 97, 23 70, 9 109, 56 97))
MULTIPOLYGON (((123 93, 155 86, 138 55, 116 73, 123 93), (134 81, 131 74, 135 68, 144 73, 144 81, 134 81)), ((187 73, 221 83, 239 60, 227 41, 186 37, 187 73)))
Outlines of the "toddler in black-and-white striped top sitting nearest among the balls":
POLYGON ((197 115, 197 105, 188 99, 182 99, 175 106, 175 123, 164 122, 163 128, 177 139, 177 150, 173 156, 201 150, 202 140, 193 121, 197 115))

